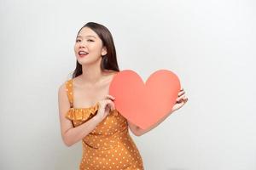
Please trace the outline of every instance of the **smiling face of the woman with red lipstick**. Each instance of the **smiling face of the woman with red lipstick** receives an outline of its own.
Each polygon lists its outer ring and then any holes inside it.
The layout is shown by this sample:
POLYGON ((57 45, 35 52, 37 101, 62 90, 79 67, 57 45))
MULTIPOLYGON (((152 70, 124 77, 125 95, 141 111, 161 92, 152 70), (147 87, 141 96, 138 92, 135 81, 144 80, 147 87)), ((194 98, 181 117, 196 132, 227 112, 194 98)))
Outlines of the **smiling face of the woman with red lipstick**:
POLYGON ((95 31, 89 27, 84 27, 76 38, 74 52, 79 64, 89 64, 96 62, 107 54, 105 47, 102 47, 102 40, 95 31))

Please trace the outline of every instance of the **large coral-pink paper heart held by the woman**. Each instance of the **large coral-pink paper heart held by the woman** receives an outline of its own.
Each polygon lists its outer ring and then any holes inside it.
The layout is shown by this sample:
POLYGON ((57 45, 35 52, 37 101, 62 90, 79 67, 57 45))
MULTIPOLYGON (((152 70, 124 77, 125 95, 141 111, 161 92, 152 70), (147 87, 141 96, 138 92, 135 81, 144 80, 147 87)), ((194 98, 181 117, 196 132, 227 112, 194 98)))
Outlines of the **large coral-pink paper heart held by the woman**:
POLYGON ((155 71, 146 83, 135 71, 119 71, 109 86, 116 110, 143 129, 172 111, 179 91, 178 77, 168 70, 155 71))

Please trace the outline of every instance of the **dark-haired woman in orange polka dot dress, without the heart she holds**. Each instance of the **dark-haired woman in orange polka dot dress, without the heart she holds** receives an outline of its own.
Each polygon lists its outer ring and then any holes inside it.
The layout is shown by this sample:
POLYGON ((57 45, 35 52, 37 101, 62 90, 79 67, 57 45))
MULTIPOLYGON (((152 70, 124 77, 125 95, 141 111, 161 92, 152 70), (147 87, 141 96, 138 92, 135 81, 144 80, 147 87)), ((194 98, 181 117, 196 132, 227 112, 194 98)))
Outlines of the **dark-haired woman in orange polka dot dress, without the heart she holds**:
MULTIPOLYGON (((83 156, 79 169, 144 169, 128 127, 140 136, 167 116, 143 130, 115 110, 114 98, 108 95, 108 88, 113 76, 119 72, 119 66, 108 28, 94 22, 84 25, 76 37, 74 52, 76 69, 73 77, 59 88, 58 99, 64 143, 71 146, 82 140, 83 156)), ((182 89, 172 112, 186 101, 182 89)))

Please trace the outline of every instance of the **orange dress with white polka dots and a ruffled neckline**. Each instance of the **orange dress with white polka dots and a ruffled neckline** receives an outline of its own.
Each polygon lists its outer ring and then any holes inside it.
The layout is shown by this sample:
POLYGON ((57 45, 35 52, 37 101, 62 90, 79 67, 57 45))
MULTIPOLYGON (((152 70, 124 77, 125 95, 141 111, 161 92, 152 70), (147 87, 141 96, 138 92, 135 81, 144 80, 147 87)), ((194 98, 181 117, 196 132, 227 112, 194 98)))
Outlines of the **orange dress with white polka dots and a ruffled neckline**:
MULTIPOLYGON (((71 108, 66 118, 78 127, 96 115, 99 103, 88 108, 73 108, 73 79, 66 82, 71 108)), ((131 139, 128 123, 119 111, 110 111, 96 128, 84 137, 83 156, 80 170, 143 170, 143 160, 137 146, 131 139)))

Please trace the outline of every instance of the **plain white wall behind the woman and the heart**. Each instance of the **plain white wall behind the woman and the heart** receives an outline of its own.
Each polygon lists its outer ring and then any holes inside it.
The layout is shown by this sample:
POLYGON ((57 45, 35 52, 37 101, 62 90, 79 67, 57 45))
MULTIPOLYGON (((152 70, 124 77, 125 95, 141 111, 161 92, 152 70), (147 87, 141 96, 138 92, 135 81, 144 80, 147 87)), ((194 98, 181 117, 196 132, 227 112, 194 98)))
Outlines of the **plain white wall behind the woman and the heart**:
POLYGON ((174 71, 189 101, 133 136, 147 170, 255 170, 253 0, 0 2, 0 169, 78 169, 61 140, 57 91, 81 26, 113 34, 120 70, 174 71))

